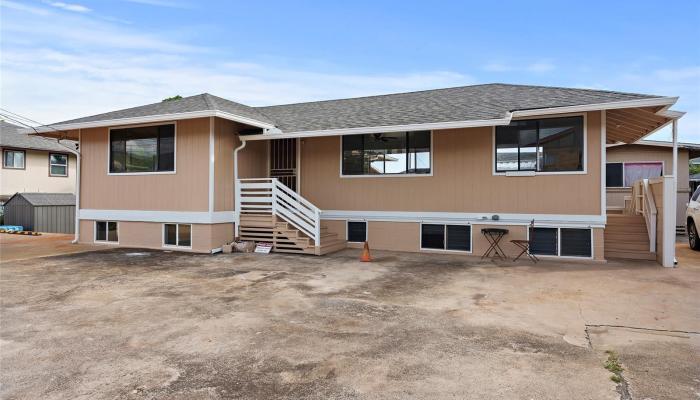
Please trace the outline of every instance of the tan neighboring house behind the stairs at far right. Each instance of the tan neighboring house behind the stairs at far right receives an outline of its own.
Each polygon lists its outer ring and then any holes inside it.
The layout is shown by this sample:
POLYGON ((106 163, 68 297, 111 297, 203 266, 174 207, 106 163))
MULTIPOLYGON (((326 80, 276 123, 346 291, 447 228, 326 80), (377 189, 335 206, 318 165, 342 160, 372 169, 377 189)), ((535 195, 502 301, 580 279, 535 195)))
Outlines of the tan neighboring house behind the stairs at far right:
MULTIPOLYGON (((676 226, 685 231, 685 208, 692 194, 687 167, 689 159, 700 156, 700 144, 678 143, 678 199, 676 226)), ((658 178, 671 174, 673 143, 657 140, 640 140, 632 144, 607 146, 607 208, 621 212, 625 199, 631 201, 632 184, 639 179, 658 178)))

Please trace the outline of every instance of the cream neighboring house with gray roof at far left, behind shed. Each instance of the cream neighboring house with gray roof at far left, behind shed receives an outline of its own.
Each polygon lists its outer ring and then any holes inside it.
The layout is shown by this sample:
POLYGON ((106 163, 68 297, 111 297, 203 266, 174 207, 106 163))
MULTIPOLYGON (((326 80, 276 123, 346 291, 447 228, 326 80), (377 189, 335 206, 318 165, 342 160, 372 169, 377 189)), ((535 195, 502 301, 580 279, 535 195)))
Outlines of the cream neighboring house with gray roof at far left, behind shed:
POLYGON ((75 193, 75 142, 29 136, 0 121, 0 202, 18 192, 75 193))

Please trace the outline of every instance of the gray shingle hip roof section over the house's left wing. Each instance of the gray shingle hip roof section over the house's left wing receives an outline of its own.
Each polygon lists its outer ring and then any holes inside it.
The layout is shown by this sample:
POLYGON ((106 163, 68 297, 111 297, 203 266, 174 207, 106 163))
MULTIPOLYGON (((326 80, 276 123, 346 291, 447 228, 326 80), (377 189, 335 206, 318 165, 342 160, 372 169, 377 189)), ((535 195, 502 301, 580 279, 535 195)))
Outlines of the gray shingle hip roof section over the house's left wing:
POLYGON ((162 101, 160 103, 153 103, 145 106, 132 107, 124 110, 111 111, 89 117, 72 119, 61 122, 61 124, 213 110, 228 112, 268 124, 273 123, 270 119, 253 107, 236 103, 235 101, 226 100, 209 93, 202 93, 195 96, 184 97, 180 100, 162 101))

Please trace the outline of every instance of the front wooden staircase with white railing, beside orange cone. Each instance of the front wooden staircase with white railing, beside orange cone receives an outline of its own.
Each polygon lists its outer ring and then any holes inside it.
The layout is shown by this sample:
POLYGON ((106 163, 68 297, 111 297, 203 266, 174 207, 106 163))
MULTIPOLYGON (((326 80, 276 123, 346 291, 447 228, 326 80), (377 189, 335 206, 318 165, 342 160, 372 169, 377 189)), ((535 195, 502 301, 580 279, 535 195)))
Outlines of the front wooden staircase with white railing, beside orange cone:
POLYGON ((272 243, 272 251, 324 255, 347 242, 321 224, 320 210, 276 178, 243 179, 237 185, 242 240, 272 243))

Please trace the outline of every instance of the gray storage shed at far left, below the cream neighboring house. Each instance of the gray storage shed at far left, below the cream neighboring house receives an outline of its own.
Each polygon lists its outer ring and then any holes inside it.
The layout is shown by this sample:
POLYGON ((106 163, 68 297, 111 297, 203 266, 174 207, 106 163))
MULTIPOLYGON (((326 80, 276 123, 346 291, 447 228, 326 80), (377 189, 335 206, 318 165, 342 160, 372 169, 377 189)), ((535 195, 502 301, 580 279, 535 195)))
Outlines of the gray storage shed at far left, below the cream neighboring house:
POLYGON ((75 233, 75 195, 16 193, 5 203, 5 224, 25 231, 75 233))

